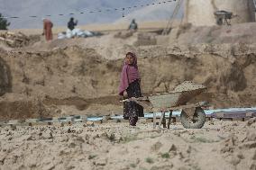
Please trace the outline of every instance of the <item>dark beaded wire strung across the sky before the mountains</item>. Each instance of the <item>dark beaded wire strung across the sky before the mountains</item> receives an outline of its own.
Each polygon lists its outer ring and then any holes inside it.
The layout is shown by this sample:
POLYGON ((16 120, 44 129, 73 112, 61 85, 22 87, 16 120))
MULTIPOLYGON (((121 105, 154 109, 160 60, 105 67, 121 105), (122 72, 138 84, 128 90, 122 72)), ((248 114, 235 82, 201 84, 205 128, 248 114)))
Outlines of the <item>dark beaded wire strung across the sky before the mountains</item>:
POLYGON ((155 2, 155 3, 149 3, 149 4, 137 4, 133 6, 126 6, 126 7, 119 7, 119 8, 108 8, 108 9, 98 9, 98 10, 87 10, 86 12, 77 12, 77 13, 59 13, 59 14, 46 14, 46 15, 30 15, 30 16, 1 16, 0 18, 3 19, 22 19, 22 18, 43 18, 43 17, 51 17, 51 16, 64 16, 64 15, 73 15, 73 14, 84 14, 84 13, 105 13, 105 12, 123 12, 123 17, 124 17, 124 12, 126 10, 131 10, 134 8, 138 7, 145 7, 145 6, 152 6, 152 5, 159 5, 159 4, 167 4, 171 2, 176 2, 177 0, 165 0, 165 1, 160 1, 160 2, 155 2))

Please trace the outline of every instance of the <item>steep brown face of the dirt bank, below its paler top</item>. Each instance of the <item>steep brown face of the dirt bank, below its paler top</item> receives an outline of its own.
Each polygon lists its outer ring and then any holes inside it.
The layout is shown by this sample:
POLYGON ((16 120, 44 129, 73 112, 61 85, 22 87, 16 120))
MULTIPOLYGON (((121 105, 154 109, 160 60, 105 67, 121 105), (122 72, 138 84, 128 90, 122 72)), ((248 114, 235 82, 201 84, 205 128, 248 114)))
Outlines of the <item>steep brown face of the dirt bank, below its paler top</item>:
MULTIPOLYGON (((139 47, 135 51, 142 75, 142 93, 169 92, 189 80, 208 87, 196 100, 209 101, 215 107, 251 106, 256 103, 253 94, 256 52, 248 53, 242 47, 247 46, 238 44, 221 51, 211 45, 185 49, 139 47), (233 56, 227 57, 232 53, 233 56)), ((12 93, 5 93, 0 101, 5 107, 12 108, 23 98, 39 97, 46 105, 74 106, 85 113, 95 110, 95 114, 122 113, 117 90, 123 59, 108 60, 95 49, 78 46, 47 52, 9 51, 0 54, 0 58, 9 67, 12 77, 12 93), (23 97, 19 100, 15 94, 23 97)), ((1 109, 0 117, 13 110, 1 109)), ((36 116, 23 113, 28 117, 36 116)))

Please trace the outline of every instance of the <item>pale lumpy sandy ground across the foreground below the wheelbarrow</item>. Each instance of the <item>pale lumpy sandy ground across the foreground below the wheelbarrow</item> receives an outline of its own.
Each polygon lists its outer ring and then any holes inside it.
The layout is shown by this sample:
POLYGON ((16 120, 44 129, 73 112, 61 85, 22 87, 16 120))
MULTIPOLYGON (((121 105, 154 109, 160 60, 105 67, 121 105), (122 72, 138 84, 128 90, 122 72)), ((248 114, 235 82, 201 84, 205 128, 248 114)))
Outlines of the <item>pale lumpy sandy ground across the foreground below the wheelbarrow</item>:
POLYGON ((256 169, 256 119, 207 121, 201 130, 127 124, 1 128, 0 169, 256 169))

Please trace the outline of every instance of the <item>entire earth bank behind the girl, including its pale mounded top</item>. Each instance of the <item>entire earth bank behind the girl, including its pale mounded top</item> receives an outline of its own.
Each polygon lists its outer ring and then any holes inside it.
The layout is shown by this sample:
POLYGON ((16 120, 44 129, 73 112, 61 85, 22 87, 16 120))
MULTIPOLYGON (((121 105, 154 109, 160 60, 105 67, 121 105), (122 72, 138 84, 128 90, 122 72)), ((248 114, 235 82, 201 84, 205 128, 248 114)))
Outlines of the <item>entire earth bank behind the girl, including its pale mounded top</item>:
POLYGON ((113 32, 2 48, 0 118, 122 113, 117 89, 127 51, 138 56, 145 95, 169 92, 188 80, 208 87, 196 101, 218 108, 255 106, 254 30, 255 23, 224 28, 181 25, 168 36, 113 32))

